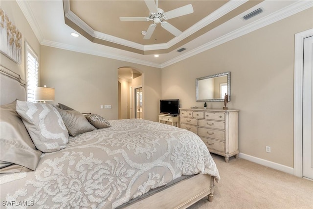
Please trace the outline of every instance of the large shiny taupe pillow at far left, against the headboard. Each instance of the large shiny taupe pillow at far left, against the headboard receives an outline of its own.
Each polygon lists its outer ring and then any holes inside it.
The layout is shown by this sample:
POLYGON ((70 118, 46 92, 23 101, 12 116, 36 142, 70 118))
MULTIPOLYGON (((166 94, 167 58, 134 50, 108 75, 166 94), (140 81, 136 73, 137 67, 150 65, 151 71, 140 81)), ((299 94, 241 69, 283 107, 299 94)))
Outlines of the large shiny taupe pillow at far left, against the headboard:
POLYGON ((0 133, 0 173, 35 170, 42 153, 16 112, 16 101, 0 106, 0 133))

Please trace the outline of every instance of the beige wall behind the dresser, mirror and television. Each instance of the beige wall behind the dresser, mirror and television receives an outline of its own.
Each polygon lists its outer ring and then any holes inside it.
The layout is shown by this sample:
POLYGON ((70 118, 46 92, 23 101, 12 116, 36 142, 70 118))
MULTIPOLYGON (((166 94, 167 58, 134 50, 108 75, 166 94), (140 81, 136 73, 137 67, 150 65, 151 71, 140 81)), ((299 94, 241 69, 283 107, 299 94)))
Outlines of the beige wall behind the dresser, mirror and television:
MULTIPOLYGON (((293 167, 294 35, 313 27, 312 8, 162 69, 162 98, 196 102, 195 79, 231 72, 239 151, 293 167), (271 147, 271 153, 265 147, 271 147)), ((207 108, 222 108, 222 102, 207 108)))

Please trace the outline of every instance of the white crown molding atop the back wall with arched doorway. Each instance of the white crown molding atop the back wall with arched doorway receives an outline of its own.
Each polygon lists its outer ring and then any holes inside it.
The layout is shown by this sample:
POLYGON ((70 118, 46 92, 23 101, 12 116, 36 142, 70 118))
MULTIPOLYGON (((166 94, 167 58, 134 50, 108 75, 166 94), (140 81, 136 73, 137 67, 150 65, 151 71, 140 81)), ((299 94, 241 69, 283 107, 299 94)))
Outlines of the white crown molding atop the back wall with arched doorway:
POLYGON ((116 59, 116 60, 130 62, 130 63, 136 63, 136 64, 140 64, 140 65, 146 65, 146 66, 161 68, 160 64, 157 64, 154 62, 148 62, 148 61, 145 61, 142 59, 136 59, 133 57, 123 56, 120 54, 88 50, 86 48, 76 47, 76 46, 69 45, 69 44, 61 44, 61 43, 54 42, 54 41, 44 40, 41 42, 41 45, 59 48, 59 49, 63 49, 63 50, 69 50, 69 51, 73 51, 73 52, 80 52, 80 53, 87 53, 87 54, 96 55, 96 56, 102 56, 102 57, 106 57, 106 58, 116 59))

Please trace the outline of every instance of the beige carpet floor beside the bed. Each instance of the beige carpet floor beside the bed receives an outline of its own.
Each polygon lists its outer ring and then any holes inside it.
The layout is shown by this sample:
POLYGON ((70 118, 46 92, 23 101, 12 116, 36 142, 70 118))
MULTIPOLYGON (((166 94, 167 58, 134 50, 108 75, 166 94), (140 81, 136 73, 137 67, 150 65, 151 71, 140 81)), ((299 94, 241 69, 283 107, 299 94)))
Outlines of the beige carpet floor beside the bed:
POLYGON ((212 157, 221 176, 213 202, 202 199, 188 209, 313 209, 313 181, 241 158, 212 157))

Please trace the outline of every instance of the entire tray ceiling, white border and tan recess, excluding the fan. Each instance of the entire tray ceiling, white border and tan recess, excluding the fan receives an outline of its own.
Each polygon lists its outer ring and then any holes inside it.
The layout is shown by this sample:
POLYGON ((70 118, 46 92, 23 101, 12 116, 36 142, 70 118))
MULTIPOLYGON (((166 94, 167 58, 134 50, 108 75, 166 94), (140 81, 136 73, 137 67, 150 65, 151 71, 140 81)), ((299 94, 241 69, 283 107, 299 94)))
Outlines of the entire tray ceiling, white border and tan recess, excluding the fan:
POLYGON ((148 22, 121 22, 121 16, 147 16, 144 0, 17 0, 41 45, 163 68, 268 26, 305 9, 311 0, 159 0, 165 12, 192 4, 194 12, 168 20, 175 37, 157 26, 144 40, 148 22), (263 12, 243 17, 258 8, 263 12), (76 32, 80 36, 72 37, 76 32), (185 48, 182 52, 179 49, 185 48), (158 54, 158 57, 154 57, 158 54))

